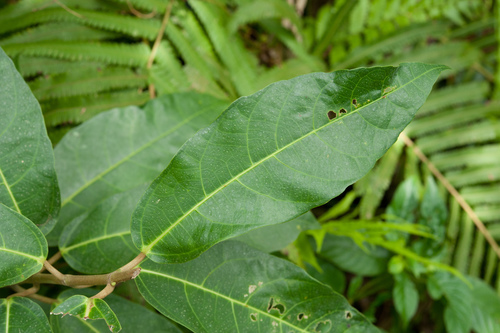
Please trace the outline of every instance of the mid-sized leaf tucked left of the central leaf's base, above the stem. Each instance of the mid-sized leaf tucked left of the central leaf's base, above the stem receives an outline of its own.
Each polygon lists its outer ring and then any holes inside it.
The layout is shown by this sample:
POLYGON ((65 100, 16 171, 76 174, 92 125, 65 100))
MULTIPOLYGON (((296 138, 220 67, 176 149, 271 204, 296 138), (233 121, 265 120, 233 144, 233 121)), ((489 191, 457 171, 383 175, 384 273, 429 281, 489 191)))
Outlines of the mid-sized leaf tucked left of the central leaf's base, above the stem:
POLYGON ((104 274, 134 259, 130 217, 145 189, 115 194, 71 221, 59 239, 64 260, 79 272, 104 274))

